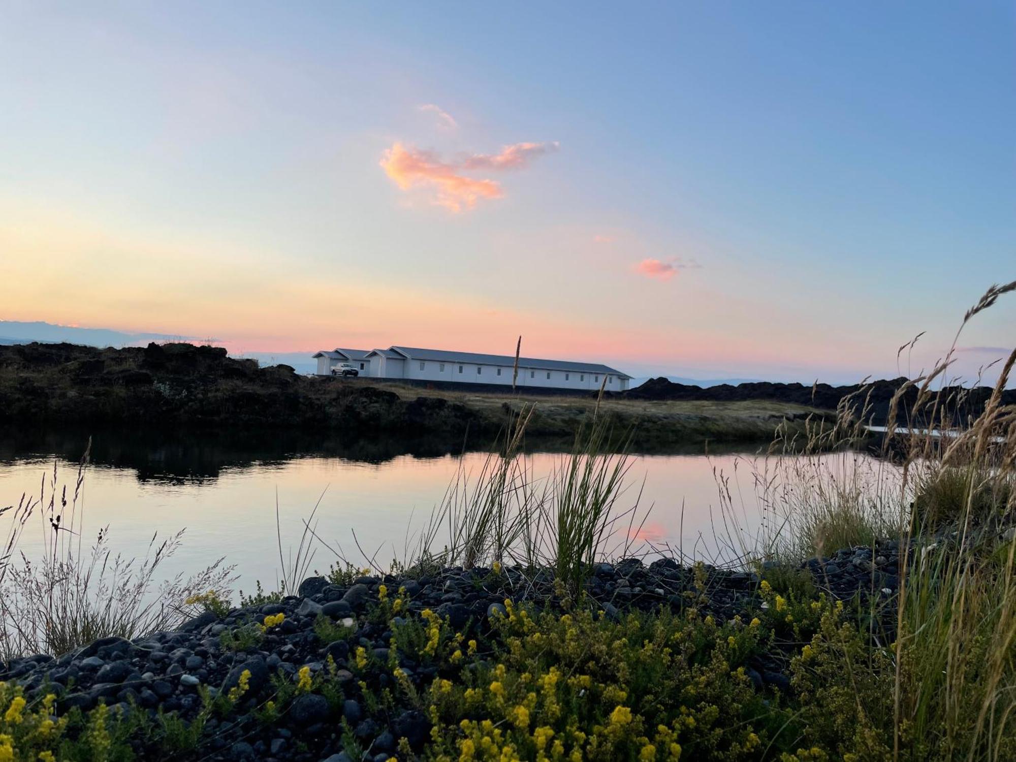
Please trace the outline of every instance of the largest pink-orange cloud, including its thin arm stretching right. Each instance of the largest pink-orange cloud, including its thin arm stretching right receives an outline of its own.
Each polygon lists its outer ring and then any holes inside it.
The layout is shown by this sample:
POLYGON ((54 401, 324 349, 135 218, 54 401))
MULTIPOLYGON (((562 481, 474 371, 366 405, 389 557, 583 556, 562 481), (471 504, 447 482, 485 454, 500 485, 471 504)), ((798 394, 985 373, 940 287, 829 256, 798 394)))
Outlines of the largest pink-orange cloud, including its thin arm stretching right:
POLYGON ((499 153, 473 153, 458 162, 443 162, 434 151, 395 142, 381 156, 381 168, 402 190, 430 188, 434 203, 454 212, 471 209, 482 198, 503 198, 496 180, 477 179, 463 170, 513 170, 525 167, 533 156, 555 150, 557 143, 516 143, 499 153))

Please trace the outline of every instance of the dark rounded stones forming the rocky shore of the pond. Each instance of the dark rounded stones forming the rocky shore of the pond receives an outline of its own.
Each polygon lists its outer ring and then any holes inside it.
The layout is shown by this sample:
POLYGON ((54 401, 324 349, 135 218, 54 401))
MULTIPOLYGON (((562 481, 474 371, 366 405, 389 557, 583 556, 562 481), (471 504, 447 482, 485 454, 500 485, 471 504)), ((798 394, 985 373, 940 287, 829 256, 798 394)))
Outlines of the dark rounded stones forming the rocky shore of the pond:
MULTIPOLYGON (((773 585, 777 578, 789 579, 790 588, 813 586, 810 594, 823 591, 831 599, 860 593, 874 601, 873 611, 888 614, 899 560, 894 542, 845 549, 799 569, 766 565, 759 573, 626 559, 595 566, 585 606, 594 618, 609 620, 633 611, 685 616, 694 610, 707 623, 754 626, 754 618, 783 600, 772 597, 764 581, 772 577, 773 585)), ((550 570, 507 567, 446 568, 412 578, 365 574, 338 584, 311 577, 297 595, 229 612, 209 609, 175 632, 108 637, 59 658, 13 659, 0 664, 0 681, 22 686, 29 702, 53 694, 59 712, 105 704, 121 716, 137 713, 163 727, 172 715, 197 726, 191 752, 182 756, 150 747, 150 734, 132 738, 135 754, 148 759, 352 762, 357 752, 351 750, 362 750, 364 760, 387 762, 421 753, 431 738, 432 721, 421 706, 392 699, 396 683, 405 688, 399 695, 417 696, 450 677, 440 664, 397 648, 396 631, 401 645, 412 635, 400 628, 416 622, 424 628, 422 637, 436 640, 436 614, 454 642, 463 650, 468 643, 469 653, 483 661, 499 618, 514 617, 513 607, 526 605, 563 612, 559 592, 550 570), (229 711, 210 711, 226 697, 229 711)), ((800 644, 773 638, 747 660, 745 674, 755 692, 792 693, 793 647, 800 644)))

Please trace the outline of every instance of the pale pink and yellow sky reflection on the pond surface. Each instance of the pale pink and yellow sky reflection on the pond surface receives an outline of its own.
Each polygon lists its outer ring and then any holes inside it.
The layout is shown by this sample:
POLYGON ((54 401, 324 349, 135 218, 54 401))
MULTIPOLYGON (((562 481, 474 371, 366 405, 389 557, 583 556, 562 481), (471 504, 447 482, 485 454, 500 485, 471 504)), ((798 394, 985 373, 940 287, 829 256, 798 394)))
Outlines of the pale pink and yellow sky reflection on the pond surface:
MULTIPOLYGON (((485 457, 466 454, 461 465, 479 473, 485 457)), ((547 453, 528 456, 531 473, 537 480, 546 478, 560 457, 547 453)), ((346 557, 359 564, 363 559, 354 542, 355 530, 362 548, 369 554, 377 553, 381 565, 387 567, 393 558, 403 558, 410 517, 412 528, 419 528, 459 465, 459 458, 452 456, 418 459, 405 455, 381 464, 306 457, 264 467, 227 468, 217 480, 203 484, 140 483, 130 470, 92 466, 81 502, 84 541, 90 542, 100 526, 109 524, 112 547, 137 554, 152 532, 165 535, 186 527, 184 548, 166 567, 167 573, 192 570, 226 556, 237 564, 242 586, 249 589, 255 579, 274 580, 279 566, 276 491, 283 548, 294 549, 302 531, 301 519, 310 515, 324 493, 316 516, 321 537, 340 546, 346 557)), ((675 553, 683 548, 686 556, 712 558, 714 531, 726 531, 714 469, 733 478, 734 523, 750 542, 761 518, 753 498, 751 468, 751 460, 735 455, 638 457, 617 509, 633 507, 641 490, 640 513, 632 530, 636 542, 669 545, 675 553)), ((4 496, 0 503, 16 502, 14 496, 23 491, 38 494, 42 474, 50 471, 51 462, 18 460, 0 465, 0 495, 4 496)), ((70 464, 60 464, 60 479, 73 490, 70 464)), ((731 519, 728 514, 727 522, 733 526, 731 519)), ((624 519, 619 529, 626 532, 628 525, 624 519)), ((41 522, 29 525, 22 547, 38 549, 42 532, 41 522)), ((443 547, 444 541, 445 534, 439 534, 436 547, 443 547)), ((321 547, 316 553, 314 566, 326 569, 333 560, 330 554, 321 547)))

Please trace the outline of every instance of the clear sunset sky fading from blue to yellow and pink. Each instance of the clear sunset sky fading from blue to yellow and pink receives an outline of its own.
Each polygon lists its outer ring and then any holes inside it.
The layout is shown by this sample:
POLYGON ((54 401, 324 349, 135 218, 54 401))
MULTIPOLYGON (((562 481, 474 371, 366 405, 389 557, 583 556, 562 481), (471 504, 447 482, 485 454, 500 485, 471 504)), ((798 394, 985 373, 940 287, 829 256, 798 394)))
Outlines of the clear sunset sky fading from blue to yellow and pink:
POLYGON ((0 320, 851 382, 1016 278, 1009 2, 86 5, 0 0, 0 320))

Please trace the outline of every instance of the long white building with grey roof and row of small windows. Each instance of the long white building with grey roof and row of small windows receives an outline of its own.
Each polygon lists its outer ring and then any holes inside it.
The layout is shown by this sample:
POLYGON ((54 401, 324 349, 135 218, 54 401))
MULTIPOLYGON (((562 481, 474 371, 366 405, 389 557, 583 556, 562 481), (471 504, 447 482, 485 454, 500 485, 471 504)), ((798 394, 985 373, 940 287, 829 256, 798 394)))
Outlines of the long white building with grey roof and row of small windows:
MULTIPOLYGON (((442 381, 464 384, 511 386, 515 358, 508 355, 478 355, 471 352, 389 346, 387 350, 343 350, 319 352, 317 374, 331 375, 332 369, 351 363, 361 376, 369 378, 442 381)), ((518 359, 515 385, 555 389, 598 389, 607 379, 608 391, 624 391, 631 376, 599 363, 567 360, 518 359)))

